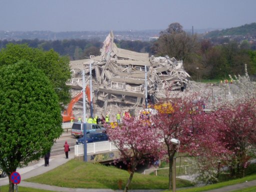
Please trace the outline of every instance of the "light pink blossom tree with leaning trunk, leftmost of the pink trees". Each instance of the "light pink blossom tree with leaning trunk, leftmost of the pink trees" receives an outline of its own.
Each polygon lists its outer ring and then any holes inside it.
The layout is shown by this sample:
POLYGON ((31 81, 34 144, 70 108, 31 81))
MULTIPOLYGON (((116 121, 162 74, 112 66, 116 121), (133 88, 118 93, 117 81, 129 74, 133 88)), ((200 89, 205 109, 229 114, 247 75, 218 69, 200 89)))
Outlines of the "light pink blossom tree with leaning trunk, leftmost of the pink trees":
POLYGON ((107 134, 109 141, 120 151, 122 160, 129 161, 130 176, 124 187, 127 191, 138 164, 148 158, 161 158, 159 135, 153 126, 134 117, 123 117, 122 124, 114 128, 108 126, 107 134))

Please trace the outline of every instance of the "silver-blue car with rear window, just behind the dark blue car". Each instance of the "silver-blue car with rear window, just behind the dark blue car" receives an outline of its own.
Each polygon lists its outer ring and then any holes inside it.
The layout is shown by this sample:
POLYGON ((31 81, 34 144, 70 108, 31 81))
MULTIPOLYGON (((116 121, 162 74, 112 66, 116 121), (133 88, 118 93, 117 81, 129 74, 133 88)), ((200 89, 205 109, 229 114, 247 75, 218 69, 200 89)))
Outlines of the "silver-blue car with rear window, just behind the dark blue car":
MULTIPOLYGON (((106 132, 106 129, 97 124, 86 122, 86 133, 89 132, 106 132)), ((83 136, 83 123, 74 122, 71 128, 71 135, 76 138, 83 136)))

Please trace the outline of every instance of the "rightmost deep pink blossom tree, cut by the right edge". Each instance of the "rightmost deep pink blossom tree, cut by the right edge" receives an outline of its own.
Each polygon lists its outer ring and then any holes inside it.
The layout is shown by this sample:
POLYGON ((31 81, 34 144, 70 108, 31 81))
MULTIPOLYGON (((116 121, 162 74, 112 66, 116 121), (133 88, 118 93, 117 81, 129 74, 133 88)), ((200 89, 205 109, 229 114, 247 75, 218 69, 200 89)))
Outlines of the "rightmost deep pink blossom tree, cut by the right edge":
POLYGON ((248 149, 256 143, 256 99, 244 100, 232 106, 222 107, 217 112, 222 135, 219 140, 225 148, 232 152, 230 155, 230 173, 232 176, 243 177, 250 156, 248 149))

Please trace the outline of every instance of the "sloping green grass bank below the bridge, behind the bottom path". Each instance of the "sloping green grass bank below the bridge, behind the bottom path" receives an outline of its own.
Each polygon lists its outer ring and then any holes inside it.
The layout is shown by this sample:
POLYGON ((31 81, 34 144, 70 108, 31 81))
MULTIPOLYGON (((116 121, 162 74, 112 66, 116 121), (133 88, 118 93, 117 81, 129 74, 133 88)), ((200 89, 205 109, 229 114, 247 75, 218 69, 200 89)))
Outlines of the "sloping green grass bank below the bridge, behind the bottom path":
MULTIPOLYGON (((126 170, 72 159, 53 170, 25 180, 71 188, 123 189, 128 177, 126 170)), ((187 187, 192 184, 187 180, 177 179, 176 186, 187 187)), ((141 173, 135 173, 130 184, 130 189, 167 188, 168 177, 141 173)))

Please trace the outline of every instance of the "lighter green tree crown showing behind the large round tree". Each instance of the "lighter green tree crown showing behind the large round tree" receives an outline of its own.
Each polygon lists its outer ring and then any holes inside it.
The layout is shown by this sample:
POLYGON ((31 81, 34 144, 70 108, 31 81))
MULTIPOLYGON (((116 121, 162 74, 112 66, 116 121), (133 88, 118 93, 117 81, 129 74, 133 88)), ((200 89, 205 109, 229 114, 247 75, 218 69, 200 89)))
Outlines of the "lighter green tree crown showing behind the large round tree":
POLYGON ((43 51, 26 44, 10 43, 0 50, 0 66, 13 64, 21 59, 30 61, 46 74, 62 105, 70 101, 69 87, 66 85, 71 76, 68 57, 59 56, 53 49, 43 51))

